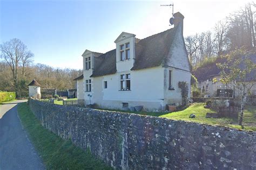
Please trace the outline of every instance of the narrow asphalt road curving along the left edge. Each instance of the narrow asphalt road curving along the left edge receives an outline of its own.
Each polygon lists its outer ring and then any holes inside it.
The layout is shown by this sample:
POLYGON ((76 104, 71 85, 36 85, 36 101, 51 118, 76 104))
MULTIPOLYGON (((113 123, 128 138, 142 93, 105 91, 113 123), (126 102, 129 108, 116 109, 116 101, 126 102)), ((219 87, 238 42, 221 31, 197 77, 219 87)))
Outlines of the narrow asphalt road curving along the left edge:
POLYGON ((0 105, 0 170, 45 169, 19 121, 20 102, 25 100, 0 105))

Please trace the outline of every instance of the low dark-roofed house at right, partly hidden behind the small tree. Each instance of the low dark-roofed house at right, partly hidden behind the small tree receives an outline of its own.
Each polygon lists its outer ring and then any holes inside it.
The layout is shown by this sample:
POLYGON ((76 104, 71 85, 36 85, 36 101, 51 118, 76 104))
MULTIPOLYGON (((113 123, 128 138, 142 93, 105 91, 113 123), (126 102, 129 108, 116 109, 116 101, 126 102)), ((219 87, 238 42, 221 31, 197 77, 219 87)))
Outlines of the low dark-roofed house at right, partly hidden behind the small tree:
MULTIPOLYGON (((256 54, 251 54, 248 56, 250 60, 256 63, 256 54)), ((207 63, 192 72, 192 74, 197 77, 198 88, 200 89, 203 97, 233 97, 240 95, 238 89, 230 84, 223 84, 219 80, 221 79, 219 69, 216 63, 226 62, 225 58, 218 57, 214 62, 207 63), (217 79, 217 82, 213 82, 213 79, 217 79)), ((246 75, 246 81, 251 81, 255 79, 256 70, 246 75)), ((256 82, 253 82, 254 86, 251 89, 252 95, 256 95, 256 82)), ((250 86, 250 84, 249 84, 250 86)))

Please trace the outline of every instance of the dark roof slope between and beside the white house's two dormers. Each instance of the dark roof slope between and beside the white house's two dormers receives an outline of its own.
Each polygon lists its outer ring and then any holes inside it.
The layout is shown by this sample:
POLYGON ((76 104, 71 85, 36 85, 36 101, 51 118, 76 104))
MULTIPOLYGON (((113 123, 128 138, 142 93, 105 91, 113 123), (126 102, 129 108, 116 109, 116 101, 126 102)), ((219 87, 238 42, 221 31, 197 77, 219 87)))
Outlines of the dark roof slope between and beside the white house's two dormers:
MULTIPOLYGON (((176 30, 177 27, 142 40, 136 39, 135 63, 131 70, 160 66, 169 54, 176 30)), ((95 58, 95 66, 91 77, 116 73, 116 49, 95 58)))

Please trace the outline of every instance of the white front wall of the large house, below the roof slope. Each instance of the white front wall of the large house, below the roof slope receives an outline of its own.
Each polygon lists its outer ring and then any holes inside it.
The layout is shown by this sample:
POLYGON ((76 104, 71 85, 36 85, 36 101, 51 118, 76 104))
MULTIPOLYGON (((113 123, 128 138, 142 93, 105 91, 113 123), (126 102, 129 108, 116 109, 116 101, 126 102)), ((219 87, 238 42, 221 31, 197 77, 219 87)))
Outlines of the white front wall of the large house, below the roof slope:
MULTIPOLYGON (((122 109, 122 103, 129 103, 129 107, 144 105, 145 108, 159 110, 164 101, 164 68, 153 67, 148 69, 119 72, 93 79, 92 103, 103 108, 122 109), (120 90, 120 75, 131 74, 131 90, 120 90), (103 82, 107 81, 107 88, 103 82)), ((89 102, 88 97, 86 102, 89 102)))

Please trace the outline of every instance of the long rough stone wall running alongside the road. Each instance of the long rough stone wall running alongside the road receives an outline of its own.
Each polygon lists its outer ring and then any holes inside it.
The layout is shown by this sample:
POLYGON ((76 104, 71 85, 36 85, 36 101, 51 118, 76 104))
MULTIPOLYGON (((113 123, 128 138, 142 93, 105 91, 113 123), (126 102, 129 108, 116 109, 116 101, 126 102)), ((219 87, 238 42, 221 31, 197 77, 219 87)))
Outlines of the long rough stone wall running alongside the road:
POLYGON ((256 132, 30 100, 42 125, 116 169, 256 169, 256 132))

